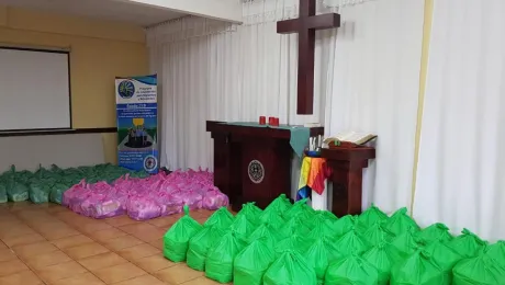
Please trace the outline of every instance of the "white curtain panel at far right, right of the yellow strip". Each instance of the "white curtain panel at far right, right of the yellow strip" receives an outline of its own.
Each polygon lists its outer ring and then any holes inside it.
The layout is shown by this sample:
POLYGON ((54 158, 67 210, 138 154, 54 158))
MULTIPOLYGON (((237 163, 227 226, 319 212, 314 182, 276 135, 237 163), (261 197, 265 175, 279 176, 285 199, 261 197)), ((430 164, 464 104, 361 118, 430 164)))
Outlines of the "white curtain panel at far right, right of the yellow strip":
POLYGON ((505 1, 435 1, 414 217, 505 237, 505 1))

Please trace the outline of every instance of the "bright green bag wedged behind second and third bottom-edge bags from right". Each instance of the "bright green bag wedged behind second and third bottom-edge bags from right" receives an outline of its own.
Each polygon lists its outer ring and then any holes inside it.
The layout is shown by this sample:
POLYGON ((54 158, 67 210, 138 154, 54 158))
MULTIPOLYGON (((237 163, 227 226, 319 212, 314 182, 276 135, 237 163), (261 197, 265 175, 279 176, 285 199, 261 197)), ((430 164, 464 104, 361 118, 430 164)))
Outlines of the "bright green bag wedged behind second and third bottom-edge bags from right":
POLYGON ((403 258, 396 249, 388 247, 386 242, 383 241, 364 252, 362 259, 377 269, 379 274, 378 284, 388 285, 390 284, 391 269, 394 264, 401 262, 403 258))

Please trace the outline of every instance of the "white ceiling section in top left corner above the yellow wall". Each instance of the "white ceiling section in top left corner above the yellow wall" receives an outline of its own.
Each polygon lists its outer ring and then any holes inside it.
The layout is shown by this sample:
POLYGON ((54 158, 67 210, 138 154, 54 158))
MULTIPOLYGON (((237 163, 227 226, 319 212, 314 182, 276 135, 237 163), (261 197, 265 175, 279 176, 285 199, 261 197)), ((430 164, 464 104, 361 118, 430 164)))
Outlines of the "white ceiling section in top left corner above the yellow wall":
POLYGON ((165 9, 115 0, 0 0, 0 5, 128 22, 141 26, 149 26, 186 15, 165 9))

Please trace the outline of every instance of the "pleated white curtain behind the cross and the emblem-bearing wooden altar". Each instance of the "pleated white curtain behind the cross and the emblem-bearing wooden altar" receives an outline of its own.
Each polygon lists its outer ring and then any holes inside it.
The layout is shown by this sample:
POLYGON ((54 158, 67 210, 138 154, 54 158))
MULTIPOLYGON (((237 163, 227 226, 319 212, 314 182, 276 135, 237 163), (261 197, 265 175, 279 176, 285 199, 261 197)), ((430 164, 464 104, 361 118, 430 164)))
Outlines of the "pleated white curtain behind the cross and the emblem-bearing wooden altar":
POLYGON ((152 72, 160 76, 161 166, 212 169, 206 119, 324 122, 336 31, 316 35, 314 114, 300 116, 298 35, 277 34, 276 24, 298 18, 298 0, 247 2, 244 14, 244 25, 186 18, 148 30, 152 72))

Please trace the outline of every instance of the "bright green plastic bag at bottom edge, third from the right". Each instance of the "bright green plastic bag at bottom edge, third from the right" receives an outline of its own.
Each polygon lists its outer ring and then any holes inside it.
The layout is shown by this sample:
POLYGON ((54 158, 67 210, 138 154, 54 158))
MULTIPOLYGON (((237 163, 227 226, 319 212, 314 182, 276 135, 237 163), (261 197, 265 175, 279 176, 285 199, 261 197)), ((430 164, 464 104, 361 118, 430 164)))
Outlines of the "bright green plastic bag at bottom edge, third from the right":
POLYGON ((379 281, 377 269, 358 255, 333 262, 325 276, 325 285, 374 285, 379 281))

